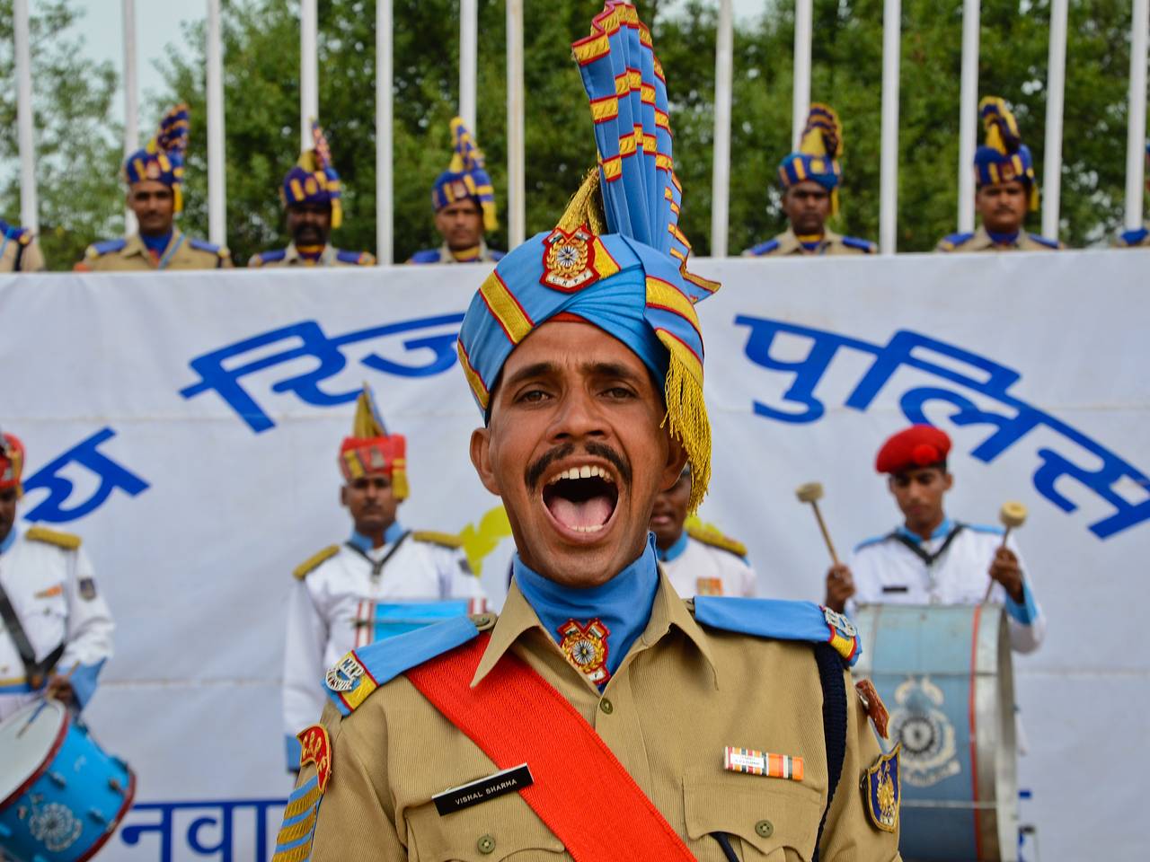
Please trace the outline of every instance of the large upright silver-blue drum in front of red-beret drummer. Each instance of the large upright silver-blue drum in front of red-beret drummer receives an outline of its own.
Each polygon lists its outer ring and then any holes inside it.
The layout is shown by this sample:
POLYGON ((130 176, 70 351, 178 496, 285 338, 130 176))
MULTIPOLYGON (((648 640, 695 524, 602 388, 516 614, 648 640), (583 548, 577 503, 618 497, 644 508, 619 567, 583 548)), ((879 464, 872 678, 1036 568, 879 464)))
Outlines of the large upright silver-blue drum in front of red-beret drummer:
POLYGON ((1018 859, 1014 677, 997 605, 864 605, 854 616, 869 677, 902 742, 906 860, 1018 859))

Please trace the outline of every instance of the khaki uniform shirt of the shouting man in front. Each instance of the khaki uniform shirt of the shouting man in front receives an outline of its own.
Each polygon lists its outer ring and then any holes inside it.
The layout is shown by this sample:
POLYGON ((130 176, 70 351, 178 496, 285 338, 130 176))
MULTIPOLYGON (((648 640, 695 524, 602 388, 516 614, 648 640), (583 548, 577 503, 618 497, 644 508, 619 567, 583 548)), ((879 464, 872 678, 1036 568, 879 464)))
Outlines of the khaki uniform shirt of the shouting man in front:
MULTIPOLYGON (((480 624, 490 628, 490 617, 480 624)), ((712 832, 726 832, 743 860, 811 859, 827 801, 827 759, 810 645, 705 630, 660 574, 646 629, 600 694, 567 662, 518 586, 493 625, 473 685, 508 652, 526 661, 595 728, 699 862, 726 860, 712 832), (724 746, 802 756, 805 776, 723 771, 724 746)), ((880 752, 850 674, 844 678, 846 753, 820 859, 898 860, 897 832, 871 825, 864 808, 860 779, 880 752)), ((382 685, 346 718, 329 703, 324 724, 332 767, 315 818, 314 862, 572 859, 518 793, 439 816, 432 794, 498 768, 407 677, 382 685)), ((308 764, 300 784, 314 776, 308 764)), ((581 785, 577 762, 570 799, 580 806, 598 799, 595 787, 581 785)), ((290 830, 277 844, 302 834, 290 830)))

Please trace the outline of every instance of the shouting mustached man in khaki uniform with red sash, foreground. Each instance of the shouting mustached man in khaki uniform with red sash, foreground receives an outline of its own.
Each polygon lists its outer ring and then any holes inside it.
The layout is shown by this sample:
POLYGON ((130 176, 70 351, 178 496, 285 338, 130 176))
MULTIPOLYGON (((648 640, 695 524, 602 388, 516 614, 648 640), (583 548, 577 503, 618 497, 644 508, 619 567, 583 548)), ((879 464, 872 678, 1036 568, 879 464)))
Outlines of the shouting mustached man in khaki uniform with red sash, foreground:
POLYGON ((610 2, 573 47, 598 169, 460 330, 484 423, 470 456, 506 508, 514 583, 498 619, 328 671, 275 859, 897 860, 898 753, 854 694, 850 622, 684 602, 659 575, 656 495, 690 462, 693 509, 710 479, 695 302, 719 285, 687 270, 650 31, 610 2))

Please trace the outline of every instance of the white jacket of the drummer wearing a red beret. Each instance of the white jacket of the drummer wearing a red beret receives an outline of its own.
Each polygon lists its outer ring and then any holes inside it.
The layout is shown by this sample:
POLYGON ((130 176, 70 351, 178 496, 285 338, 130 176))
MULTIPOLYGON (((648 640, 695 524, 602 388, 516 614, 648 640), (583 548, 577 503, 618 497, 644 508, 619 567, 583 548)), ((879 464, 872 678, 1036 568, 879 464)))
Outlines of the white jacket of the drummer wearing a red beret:
MULTIPOLYGON (((945 518, 926 541, 903 526, 867 539, 851 555, 856 592, 846 613, 853 614, 858 605, 871 603, 979 605, 987 594, 990 563, 1002 538, 1002 528, 959 524, 945 518)), ((1030 577, 1013 534, 1006 539, 1006 547, 1018 556, 1025 594, 1021 603, 1015 602, 996 583, 990 601, 1006 608, 1011 647, 1030 653, 1042 644, 1046 619, 1030 591, 1030 577)))

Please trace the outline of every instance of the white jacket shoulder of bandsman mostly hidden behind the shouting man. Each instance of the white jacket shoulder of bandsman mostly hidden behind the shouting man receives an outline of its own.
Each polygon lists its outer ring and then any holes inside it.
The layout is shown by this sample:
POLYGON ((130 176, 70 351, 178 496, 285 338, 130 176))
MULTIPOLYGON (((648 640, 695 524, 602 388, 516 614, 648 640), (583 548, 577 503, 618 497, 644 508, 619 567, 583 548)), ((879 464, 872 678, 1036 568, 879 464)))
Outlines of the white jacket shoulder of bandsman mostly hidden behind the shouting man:
POLYGON ((737 541, 721 533, 693 529, 684 530, 666 551, 656 551, 667 579, 684 599, 692 595, 754 598, 758 579, 745 553, 737 541))

